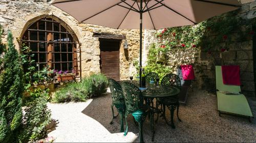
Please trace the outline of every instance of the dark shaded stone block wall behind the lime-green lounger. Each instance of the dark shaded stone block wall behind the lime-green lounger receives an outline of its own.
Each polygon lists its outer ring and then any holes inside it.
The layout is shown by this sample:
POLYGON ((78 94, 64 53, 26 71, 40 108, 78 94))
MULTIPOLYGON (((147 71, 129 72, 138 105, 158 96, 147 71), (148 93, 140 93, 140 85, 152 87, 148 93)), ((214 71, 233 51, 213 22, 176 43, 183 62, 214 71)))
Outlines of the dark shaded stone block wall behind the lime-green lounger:
MULTIPOLYGON (((253 36, 255 35, 252 26, 256 25, 255 11, 256 2, 241 0, 242 7, 233 14, 223 14, 212 18, 212 21, 226 22, 230 19, 239 19, 237 27, 233 25, 227 28, 234 28, 229 33, 220 33, 221 30, 214 30, 208 27, 206 40, 214 42, 210 48, 208 44, 201 47, 199 62, 202 63, 204 76, 200 82, 203 89, 215 91, 215 66, 216 65, 239 65, 241 69, 241 89, 246 96, 255 96, 254 72, 253 72, 253 36), (225 21, 225 20, 224 20, 225 21), (222 40, 218 40, 222 38, 222 40)), ((233 23, 234 25, 236 23, 233 23)), ((225 32, 225 31, 224 31, 225 32)))

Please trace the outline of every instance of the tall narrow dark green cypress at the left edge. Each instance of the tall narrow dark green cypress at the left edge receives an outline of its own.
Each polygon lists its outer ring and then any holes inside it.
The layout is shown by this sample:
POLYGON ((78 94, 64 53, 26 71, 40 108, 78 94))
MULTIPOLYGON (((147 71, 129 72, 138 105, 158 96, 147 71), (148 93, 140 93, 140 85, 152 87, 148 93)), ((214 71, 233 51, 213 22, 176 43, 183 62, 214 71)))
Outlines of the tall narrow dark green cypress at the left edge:
POLYGON ((13 36, 8 31, 8 50, 0 73, 0 142, 16 141, 22 124, 23 70, 13 36))

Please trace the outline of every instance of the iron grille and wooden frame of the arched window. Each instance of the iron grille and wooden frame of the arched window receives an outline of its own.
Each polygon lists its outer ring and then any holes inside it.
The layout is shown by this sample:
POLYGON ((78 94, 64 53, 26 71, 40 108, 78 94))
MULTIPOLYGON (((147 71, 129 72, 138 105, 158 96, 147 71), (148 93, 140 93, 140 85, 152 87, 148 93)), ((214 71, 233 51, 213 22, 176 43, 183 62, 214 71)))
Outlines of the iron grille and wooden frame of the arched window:
MULTIPOLYGON (((55 64, 60 65, 60 70, 62 70, 62 64, 67 63, 67 70, 69 70, 69 63, 72 63, 72 68, 73 70, 76 71, 76 78, 81 79, 81 43, 79 43, 78 38, 76 37, 75 33, 71 30, 71 27, 63 22, 61 19, 54 15, 50 16, 45 16, 42 17, 38 20, 35 20, 29 26, 26 28, 25 32, 22 34, 22 38, 20 38, 22 43, 27 43, 29 50, 31 50, 31 43, 36 43, 37 44, 37 51, 32 51, 33 54, 37 55, 37 62, 35 64, 38 64, 37 70, 40 70, 40 64, 45 64, 50 67, 50 70, 54 69, 55 70, 55 64), (51 20, 49 20, 51 19, 51 20), (45 29, 41 30, 39 29, 39 22, 45 22, 44 26, 45 29), (51 24, 51 30, 47 27, 49 25, 49 22, 51 24), (58 24, 58 30, 55 31, 54 29, 54 23, 58 24), (36 29, 31 28, 32 25, 36 24, 36 29), (65 28, 66 32, 62 32, 61 29, 65 28), (36 32, 36 40, 31 40, 30 33, 31 32, 36 32), (39 38, 39 32, 44 33, 44 41, 41 41, 39 38), (59 38, 57 40, 54 39, 54 35, 59 34, 59 38), (61 34, 66 35, 66 41, 61 40, 61 34), (26 37, 27 36, 27 37, 26 37), (27 39, 26 39, 27 38, 27 39), (72 41, 70 39, 72 38, 72 41), (44 43, 44 48, 45 51, 40 51, 39 50, 39 44, 44 43), (54 51, 55 46, 54 44, 59 44, 57 47, 59 48, 59 51, 54 51), (67 51, 61 51, 61 44, 66 45, 67 51), (72 52, 69 51, 69 44, 71 44, 72 52), (56 62, 55 61, 55 54, 60 55, 60 61, 56 62), (67 54, 66 61, 62 61, 62 54, 67 54), (69 55, 72 53, 72 61, 69 61, 69 55), (46 61, 40 62, 40 54, 46 54, 46 61)), ((20 44, 21 45, 21 44, 20 44)), ((29 56, 29 61, 31 61, 31 57, 29 56)), ((63 71, 63 70, 62 70, 63 71)), ((71 72, 71 71, 69 71, 71 72)))

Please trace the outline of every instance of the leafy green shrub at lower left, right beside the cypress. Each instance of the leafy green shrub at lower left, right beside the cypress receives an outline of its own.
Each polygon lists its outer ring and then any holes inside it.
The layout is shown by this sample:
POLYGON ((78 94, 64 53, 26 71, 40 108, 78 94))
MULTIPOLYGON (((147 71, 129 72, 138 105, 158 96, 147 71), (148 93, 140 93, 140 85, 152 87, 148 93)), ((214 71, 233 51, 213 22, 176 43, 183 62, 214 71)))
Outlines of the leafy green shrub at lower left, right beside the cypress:
POLYGON ((44 96, 33 98, 28 102, 25 110, 23 130, 18 138, 19 142, 36 141, 47 136, 46 126, 51 121, 51 112, 47 108, 47 99, 44 96))

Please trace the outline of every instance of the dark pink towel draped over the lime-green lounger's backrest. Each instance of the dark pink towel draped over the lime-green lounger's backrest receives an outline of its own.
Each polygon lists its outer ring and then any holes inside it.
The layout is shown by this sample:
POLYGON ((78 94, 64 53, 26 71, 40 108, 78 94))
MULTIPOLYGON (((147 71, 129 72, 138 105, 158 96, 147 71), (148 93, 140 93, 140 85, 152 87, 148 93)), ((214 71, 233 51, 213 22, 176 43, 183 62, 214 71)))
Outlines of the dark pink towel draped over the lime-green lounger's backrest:
POLYGON ((239 66, 221 66, 224 84, 241 85, 239 66))

